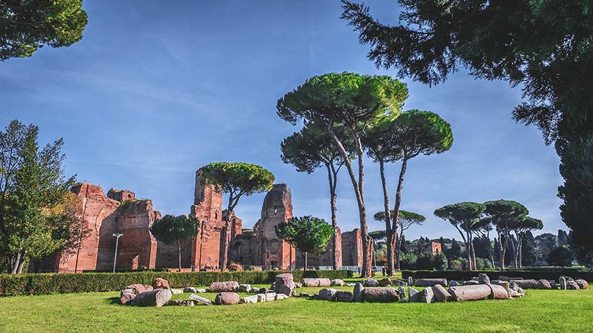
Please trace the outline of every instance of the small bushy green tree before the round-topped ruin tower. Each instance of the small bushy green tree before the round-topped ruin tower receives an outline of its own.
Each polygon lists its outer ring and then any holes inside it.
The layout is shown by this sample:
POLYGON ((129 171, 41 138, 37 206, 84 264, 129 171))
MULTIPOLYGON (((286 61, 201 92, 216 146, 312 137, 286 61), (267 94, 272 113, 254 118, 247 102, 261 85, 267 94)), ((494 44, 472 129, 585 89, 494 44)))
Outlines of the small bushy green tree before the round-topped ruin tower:
POLYGON ((314 216, 293 217, 276 225, 276 234, 301 251, 304 269, 307 270, 308 253, 323 253, 329 239, 333 237, 333 226, 314 216))

